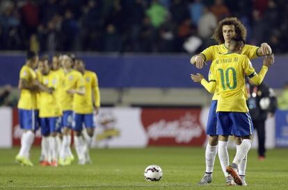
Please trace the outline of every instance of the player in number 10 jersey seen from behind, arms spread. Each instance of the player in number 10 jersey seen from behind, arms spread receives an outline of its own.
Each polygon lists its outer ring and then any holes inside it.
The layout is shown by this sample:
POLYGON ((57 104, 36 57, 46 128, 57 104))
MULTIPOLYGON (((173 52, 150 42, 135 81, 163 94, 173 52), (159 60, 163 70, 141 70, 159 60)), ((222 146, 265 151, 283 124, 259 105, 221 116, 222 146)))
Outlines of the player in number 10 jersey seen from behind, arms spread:
POLYGON ((192 80, 201 83, 210 93, 218 89, 216 135, 220 135, 219 139, 227 142, 229 135, 234 135, 243 140, 232 165, 226 167, 227 173, 230 173, 234 182, 239 185, 243 183, 238 174, 238 166, 250 150, 253 135, 253 123, 246 105, 245 75, 255 85, 259 85, 274 62, 273 55, 264 58, 263 67, 258 75, 248 57, 238 54, 243 51, 244 44, 241 37, 232 37, 228 52, 219 55, 212 62, 209 83, 201 74, 191 75, 192 80))

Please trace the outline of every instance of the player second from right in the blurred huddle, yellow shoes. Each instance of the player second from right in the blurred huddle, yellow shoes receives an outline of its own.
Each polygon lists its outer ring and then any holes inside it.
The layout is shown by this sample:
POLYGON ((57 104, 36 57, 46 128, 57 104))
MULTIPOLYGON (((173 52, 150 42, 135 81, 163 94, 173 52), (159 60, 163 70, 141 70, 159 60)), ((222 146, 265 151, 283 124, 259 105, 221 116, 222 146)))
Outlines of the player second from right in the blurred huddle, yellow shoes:
POLYGON ((59 165, 66 166, 71 164, 74 156, 70 150, 71 144, 71 129, 73 121, 72 102, 74 94, 84 95, 83 78, 79 71, 74 70, 73 60, 67 55, 63 55, 63 69, 65 78, 61 87, 61 109, 63 110, 62 126, 63 126, 63 141, 61 145, 61 153, 59 165))

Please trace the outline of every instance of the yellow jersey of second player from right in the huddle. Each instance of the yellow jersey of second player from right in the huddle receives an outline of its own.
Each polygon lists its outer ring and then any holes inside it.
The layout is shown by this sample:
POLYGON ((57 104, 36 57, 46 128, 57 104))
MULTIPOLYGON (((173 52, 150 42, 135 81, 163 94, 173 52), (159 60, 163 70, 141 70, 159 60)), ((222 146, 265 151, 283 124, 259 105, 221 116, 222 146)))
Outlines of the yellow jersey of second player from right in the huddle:
POLYGON ((60 96, 61 109, 63 111, 73 110, 73 94, 68 94, 67 90, 81 87, 83 87, 83 78, 79 71, 72 69, 65 74, 60 96))

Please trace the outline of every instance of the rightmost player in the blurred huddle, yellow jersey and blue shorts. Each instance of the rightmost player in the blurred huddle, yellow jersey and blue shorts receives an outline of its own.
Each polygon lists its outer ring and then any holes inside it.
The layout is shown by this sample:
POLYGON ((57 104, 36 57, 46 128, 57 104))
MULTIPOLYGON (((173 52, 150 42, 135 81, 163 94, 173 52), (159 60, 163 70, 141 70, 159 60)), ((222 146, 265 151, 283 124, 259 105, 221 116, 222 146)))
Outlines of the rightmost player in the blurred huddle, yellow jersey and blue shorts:
POLYGON ((93 123, 93 111, 95 110, 95 114, 99 112, 100 93, 97 75, 93 71, 86 70, 82 60, 77 59, 75 61, 74 69, 82 74, 85 87, 85 96, 75 94, 73 99, 74 142, 79 164, 86 164, 90 163, 89 148, 92 143, 95 127, 93 123), (88 135, 83 135, 85 141, 81 137, 83 123, 88 133, 88 135))

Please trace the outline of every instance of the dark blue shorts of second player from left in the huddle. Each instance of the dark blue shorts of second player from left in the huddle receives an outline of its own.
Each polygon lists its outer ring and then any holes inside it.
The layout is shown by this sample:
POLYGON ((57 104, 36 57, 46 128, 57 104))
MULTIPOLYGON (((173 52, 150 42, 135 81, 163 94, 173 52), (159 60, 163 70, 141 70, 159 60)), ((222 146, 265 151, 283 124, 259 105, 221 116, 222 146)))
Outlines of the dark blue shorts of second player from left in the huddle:
POLYGON ((41 134, 48 136, 52 132, 58 132, 61 129, 61 117, 44 117, 41 118, 41 134))

